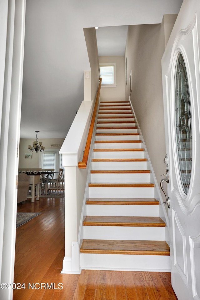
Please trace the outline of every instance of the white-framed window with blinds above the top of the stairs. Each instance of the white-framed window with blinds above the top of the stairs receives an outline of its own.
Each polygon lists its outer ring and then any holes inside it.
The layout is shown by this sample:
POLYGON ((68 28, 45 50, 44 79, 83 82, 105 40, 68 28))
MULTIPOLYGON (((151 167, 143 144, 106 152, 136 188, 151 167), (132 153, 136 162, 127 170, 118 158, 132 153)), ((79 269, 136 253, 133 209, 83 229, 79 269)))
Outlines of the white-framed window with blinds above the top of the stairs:
POLYGON ((99 68, 102 77, 102 88, 116 88, 116 64, 100 63, 99 68))

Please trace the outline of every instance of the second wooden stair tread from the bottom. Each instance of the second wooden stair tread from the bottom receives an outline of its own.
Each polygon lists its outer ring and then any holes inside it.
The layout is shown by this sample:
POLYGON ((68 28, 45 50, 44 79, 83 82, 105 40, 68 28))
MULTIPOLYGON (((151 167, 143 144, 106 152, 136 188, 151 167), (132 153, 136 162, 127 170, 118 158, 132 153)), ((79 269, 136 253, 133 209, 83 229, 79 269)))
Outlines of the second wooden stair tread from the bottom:
POLYGON ((84 226, 165 227, 160 217, 87 216, 84 226))

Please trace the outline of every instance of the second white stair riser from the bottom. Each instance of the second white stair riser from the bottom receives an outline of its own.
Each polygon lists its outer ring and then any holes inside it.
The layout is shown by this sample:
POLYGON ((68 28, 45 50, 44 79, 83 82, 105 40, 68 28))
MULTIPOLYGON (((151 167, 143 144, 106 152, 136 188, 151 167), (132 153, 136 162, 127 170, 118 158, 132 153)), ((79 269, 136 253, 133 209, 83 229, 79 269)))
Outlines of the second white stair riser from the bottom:
POLYGON ((84 239, 165 241, 165 227, 83 226, 84 239))

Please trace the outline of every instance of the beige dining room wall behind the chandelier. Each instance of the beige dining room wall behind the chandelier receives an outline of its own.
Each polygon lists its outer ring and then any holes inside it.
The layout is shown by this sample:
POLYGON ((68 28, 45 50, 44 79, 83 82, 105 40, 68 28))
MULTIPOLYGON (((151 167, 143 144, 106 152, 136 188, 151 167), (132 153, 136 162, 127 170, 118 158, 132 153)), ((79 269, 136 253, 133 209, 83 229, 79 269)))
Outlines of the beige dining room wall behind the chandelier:
MULTIPOLYGON (((40 153, 32 152, 32 158, 25 158, 25 153, 28 151, 28 145, 32 145, 35 139, 21 138, 19 143, 19 168, 40 168, 40 153)), ((45 150, 55 150, 61 148, 61 146, 55 147, 54 144, 63 144, 64 138, 42 138, 38 139, 45 146, 45 150), (52 146, 51 146, 52 145, 52 146)), ((44 150, 44 151, 45 151, 44 150)))

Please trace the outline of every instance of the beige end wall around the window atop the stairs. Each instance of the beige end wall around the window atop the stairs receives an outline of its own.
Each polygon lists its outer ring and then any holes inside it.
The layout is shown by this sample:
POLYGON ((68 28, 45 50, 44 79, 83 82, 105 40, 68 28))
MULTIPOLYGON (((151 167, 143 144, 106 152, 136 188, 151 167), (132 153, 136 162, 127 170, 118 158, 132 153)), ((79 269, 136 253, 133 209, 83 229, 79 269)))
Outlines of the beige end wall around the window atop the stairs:
POLYGON ((124 56, 99 56, 99 63, 116 63, 116 88, 101 88, 101 101, 125 101, 124 56))

